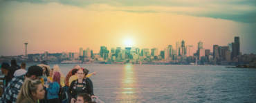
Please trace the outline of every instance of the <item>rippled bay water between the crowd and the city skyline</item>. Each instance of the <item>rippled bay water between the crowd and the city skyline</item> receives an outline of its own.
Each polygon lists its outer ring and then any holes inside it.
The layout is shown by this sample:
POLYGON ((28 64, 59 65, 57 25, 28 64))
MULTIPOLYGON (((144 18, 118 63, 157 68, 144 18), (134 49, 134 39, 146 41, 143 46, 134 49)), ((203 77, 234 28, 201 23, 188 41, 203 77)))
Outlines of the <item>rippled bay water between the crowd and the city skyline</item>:
MULTIPOLYGON (((27 68, 30 65, 27 64, 27 68)), ((53 68, 53 64, 49 64, 53 68)), ((75 64, 58 64, 66 76, 75 64)), ((108 102, 256 102, 256 69, 191 65, 97 65, 93 91, 108 102)))

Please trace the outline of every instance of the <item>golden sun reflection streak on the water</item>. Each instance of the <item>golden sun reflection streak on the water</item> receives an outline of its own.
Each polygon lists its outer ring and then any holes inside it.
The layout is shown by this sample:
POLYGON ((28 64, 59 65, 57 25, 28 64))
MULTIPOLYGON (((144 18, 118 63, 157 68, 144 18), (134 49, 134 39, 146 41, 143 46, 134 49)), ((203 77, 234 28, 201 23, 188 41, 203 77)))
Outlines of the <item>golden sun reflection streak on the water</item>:
POLYGON ((120 85, 120 102, 136 102, 135 76, 133 65, 124 65, 120 85))

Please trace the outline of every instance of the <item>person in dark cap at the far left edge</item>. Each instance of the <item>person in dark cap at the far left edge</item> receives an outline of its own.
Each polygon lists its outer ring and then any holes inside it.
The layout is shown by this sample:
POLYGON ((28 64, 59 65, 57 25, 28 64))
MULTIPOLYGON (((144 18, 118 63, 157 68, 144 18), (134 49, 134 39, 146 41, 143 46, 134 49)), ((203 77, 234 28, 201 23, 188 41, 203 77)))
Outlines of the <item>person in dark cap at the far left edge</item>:
POLYGON ((3 78, 3 91, 4 89, 6 89, 8 82, 10 82, 10 80, 12 80, 12 78, 14 77, 13 74, 9 71, 9 69, 10 69, 9 63, 3 62, 1 65, 1 71, 5 75, 3 78))

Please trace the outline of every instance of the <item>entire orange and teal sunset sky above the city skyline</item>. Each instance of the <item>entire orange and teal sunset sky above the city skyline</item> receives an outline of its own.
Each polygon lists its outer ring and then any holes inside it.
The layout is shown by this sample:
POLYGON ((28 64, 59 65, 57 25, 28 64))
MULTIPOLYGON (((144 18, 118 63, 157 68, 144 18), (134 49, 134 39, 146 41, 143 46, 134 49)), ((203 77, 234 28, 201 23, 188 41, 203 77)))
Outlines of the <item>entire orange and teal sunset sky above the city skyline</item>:
POLYGON ((79 52, 100 46, 140 49, 176 41, 204 49, 240 37, 242 54, 256 54, 255 0, 0 0, 0 56, 79 52))

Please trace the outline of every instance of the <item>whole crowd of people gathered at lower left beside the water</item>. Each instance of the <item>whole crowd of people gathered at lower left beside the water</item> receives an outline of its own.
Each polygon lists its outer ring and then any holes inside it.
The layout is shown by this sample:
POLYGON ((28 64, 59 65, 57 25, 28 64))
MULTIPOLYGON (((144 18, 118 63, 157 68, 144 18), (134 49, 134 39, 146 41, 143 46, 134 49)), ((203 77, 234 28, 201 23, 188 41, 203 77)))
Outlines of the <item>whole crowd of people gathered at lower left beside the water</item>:
POLYGON ((68 98, 69 103, 95 103, 97 98, 93 93, 93 82, 89 78, 96 72, 75 65, 66 78, 58 65, 53 69, 46 61, 40 65, 28 67, 16 60, 1 64, 3 78, 3 95, 0 103, 62 103, 68 98), (67 95, 67 97, 66 97, 67 95))

